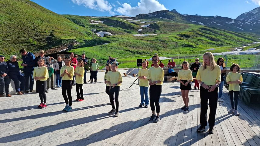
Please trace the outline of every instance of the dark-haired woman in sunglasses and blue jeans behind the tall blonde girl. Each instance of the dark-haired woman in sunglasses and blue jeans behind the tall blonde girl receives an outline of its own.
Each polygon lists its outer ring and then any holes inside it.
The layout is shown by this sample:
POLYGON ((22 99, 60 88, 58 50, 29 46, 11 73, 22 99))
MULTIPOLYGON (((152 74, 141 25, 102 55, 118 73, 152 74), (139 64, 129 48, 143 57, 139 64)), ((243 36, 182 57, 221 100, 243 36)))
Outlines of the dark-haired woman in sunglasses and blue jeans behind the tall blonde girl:
POLYGON ((224 62, 223 58, 218 58, 217 59, 217 65, 220 67, 221 69, 221 82, 219 84, 219 92, 218 92, 218 99, 217 101, 219 102, 223 102, 224 100, 222 99, 222 93, 223 93, 223 86, 224 86, 224 75, 226 75, 226 65, 224 62))

